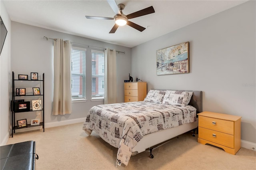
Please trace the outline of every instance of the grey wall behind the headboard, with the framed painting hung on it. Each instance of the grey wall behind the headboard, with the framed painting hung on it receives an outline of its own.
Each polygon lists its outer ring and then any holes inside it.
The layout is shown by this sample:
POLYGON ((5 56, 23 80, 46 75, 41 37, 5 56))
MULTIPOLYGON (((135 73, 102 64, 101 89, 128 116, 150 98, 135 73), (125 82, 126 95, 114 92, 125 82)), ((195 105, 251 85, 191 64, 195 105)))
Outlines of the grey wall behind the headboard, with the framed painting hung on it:
POLYGON ((203 110, 242 116, 242 140, 256 143, 255 1, 132 48, 132 75, 150 89, 203 91, 203 110), (190 73, 156 75, 156 50, 189 42, 190 73))

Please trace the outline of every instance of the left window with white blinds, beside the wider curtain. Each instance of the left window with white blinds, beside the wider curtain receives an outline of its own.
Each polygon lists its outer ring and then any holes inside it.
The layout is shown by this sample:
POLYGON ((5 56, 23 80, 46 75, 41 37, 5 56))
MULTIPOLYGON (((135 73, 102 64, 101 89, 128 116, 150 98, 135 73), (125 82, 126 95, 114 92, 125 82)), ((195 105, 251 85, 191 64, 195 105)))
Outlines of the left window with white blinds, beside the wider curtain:
POLYGON ((72 100, 85 99, 85 56, 86 49, 72 47, 71 90, 72 100))

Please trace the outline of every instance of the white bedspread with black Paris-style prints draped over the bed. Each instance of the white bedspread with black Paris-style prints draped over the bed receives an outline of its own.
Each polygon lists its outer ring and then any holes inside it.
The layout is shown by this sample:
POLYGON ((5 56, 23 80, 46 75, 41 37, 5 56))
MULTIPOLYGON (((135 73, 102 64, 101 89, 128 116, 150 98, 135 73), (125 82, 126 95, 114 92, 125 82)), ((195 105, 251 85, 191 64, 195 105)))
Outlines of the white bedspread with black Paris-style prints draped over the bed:
POLYGON ((132 149, 144 135, 196 121, 196 108, 128 102, 97 105, 90 109, 83 130, 94 130, 110 145, 118 148, 117 163, 126 166, 132 149))

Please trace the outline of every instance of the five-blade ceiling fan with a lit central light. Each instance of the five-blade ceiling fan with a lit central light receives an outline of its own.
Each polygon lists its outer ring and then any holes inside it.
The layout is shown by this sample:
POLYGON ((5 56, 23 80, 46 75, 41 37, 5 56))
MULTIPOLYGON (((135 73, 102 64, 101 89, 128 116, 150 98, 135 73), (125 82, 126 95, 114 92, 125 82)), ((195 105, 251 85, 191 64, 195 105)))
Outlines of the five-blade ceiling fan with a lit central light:
POLYGON ((139 26, 138 24, 135 24, 133 22, 128 21, 128 19, 136 18, 139 16, 144 16, 148 14, 152 14, 155 12, 153 6, 150 6, 148 8, 145 8, 143 10, 139 10, 137 12, 134 12, 132 14, 124 15, 122 10, 124 9, 124 4, 116 4, 115 0, 108 0, 108 4, 112 8, 112 10, 115 12, 114 18, 109 18, 109 17, 100 17, 100 16, 85 16, 88 19, 101 19, 101 20, 115 20, 115 25, 113 28, 110 30, 109 33, 115 33, 117 28, 119 26, 124 26, 128 25, 131 26, 132 28, 135 28, 136 30, 139 30, 140 32, 144 31, 146 28, 139 26))

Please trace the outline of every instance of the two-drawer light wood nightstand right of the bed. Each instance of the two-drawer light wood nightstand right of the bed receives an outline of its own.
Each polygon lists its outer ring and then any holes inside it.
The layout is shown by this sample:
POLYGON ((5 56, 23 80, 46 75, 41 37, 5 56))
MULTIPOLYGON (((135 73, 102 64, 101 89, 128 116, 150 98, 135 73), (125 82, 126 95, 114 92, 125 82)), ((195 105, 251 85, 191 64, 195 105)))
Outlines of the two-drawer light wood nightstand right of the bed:
POLYGON ((198 142, 236 154, 241 148, 241 118, 222 113, 198 113, 198 142))

